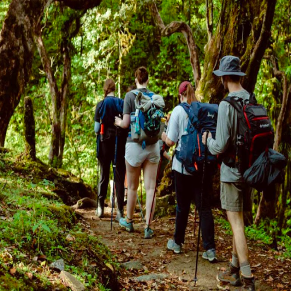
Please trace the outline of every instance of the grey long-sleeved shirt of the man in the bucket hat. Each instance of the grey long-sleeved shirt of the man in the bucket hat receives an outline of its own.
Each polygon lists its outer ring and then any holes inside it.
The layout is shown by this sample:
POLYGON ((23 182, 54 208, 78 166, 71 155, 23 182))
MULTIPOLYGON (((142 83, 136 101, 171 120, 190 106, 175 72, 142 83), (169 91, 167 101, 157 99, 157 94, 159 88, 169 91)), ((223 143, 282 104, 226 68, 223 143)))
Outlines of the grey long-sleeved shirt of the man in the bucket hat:
MULTIPOLYGON (((229 93, 228 96, 249 99, 246 90, 229 93)), ((219 155, 229 150, 231 145, 236 144, 238 112, 228 102, 221 102, 218 108, 217 129, 214 139, 207 140, 207 146, 212 155, 219 155)), ((222 182, 242 182, 242 176, 237 168, 230 168, 222 163, 220 168, 220 180, 222 182)))

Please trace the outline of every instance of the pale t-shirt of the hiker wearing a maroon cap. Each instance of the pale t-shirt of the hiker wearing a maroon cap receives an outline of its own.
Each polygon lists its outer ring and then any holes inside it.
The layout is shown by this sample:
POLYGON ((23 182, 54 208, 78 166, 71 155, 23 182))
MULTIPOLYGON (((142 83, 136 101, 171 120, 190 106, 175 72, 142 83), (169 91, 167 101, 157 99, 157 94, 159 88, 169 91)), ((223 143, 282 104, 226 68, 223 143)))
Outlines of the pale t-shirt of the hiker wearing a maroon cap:
MULTIPOLYGON (((167 137, 174 143, 178 142, 176 150, 181 148, 181 136, 187 134, 187 125, 188 125, 188 114, 185 112, 182 106, 176 106, 171 114, 171 118, 167 128, 167 137)), ((176 158, 176 155, 173 159, 172 170, 182 173, 182 163, 179 162, 176 158)), ((184 175, 191 175, 183 167, 184 175)))

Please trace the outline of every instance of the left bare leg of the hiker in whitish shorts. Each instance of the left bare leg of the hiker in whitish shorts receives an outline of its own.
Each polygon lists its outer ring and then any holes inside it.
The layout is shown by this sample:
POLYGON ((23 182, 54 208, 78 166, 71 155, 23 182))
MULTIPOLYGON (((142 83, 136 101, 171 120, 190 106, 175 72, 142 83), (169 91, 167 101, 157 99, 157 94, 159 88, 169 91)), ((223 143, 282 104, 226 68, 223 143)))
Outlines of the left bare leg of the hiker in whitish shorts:
POLYGON ((133 217, 135 205, 136 205, 136 195, 139 185, 139 177, 141 173, 141 167, 132 167, 127 161, 126 171, 127 171, 127 182, 128 182, 128 202, 127 202, 127 222, 129 223, 133 217))

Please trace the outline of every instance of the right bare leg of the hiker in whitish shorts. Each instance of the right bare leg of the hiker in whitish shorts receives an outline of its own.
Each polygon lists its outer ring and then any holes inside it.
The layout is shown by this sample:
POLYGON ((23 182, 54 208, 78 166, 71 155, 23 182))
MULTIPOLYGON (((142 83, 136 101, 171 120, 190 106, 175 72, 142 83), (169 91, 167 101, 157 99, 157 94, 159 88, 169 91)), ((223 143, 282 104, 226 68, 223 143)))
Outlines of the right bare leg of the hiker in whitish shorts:
POLYGON ((144 183, 146 189, 146 225, 151 224, 155 212, 156 200, 154 202, 153 211, 150 215, 150 210, 156 188, 158 166, 159 163, 152 163, 147 160, 143 163, 144 183))

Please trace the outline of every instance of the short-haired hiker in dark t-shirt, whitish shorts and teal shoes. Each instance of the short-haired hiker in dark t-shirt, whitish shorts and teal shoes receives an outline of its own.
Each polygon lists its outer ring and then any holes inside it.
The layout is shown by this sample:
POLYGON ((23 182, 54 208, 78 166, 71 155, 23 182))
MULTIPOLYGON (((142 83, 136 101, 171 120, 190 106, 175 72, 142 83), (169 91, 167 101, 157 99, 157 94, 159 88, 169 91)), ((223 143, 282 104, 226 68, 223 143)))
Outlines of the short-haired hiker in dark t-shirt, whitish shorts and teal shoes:
MULTIPOLYGON (((152 95, 151 92, 147 89, 148 84, 148 72, 145 67, 139 67, 135 72, 135 83, 137 90, 130 91, 126 94, 124 99, 124 109, 123 109, 123 118, 115 117, 115 124, 121 128, 129 128, 132 120, 135 121, 135 128, 140 126, 140 122, 137 123, 137 118, 139 118, 140 109, 136 108, 135 99, 138 97, 144 98, 142 104, 147 104, 152 108, 151 103, 158 101, 157 105, 160 104, 160 107, 164 107, 164 101, 161 98, 155 98, 155 101, 151 98, 144 96, 152 95), (151 102, 152 101, 152 102, 151 102)), ((152 96, 155 97, 156 95, 152 96)), ((159 111, 155 113, 160 113, 159 111)), ((140 120, 140 118, 139 118, 140 120)), ((126 162, 126 171, 127 171, 127 180, 128 180, 128 201, 127 201, 127 216, 119 220, 119 225, 124 227, 127 231, 134 231, 133 228, 133 213, 135 210, 135 205, 137 201, 137 190, 139 186, 139 178, 141 175, 141 169, 144 172, 144 183, 146 189, 146 228, 145 228, 145 239, 152 238, 154 231, 150 227, 154 209, 155 209, 155 188, 156 188, 156 178, 158 165, 160 161, 160 147, 159 147, 159 137, 158 135, 154 136, 149 144, 146 143, 146 140, 139 142, 141 138, 142 126, 135 131, 134 126, 131 126, 131 131, 129 131, 129 137, 126 143, 126 153, 125 153, 125 162, 126 162), (153 142, 153 144, 151 144, 153 142)), ((159 133, 159 130, 158 130, 159 133)), ((146 138, 146 137, 145 137, 146 138)))

